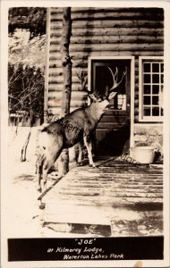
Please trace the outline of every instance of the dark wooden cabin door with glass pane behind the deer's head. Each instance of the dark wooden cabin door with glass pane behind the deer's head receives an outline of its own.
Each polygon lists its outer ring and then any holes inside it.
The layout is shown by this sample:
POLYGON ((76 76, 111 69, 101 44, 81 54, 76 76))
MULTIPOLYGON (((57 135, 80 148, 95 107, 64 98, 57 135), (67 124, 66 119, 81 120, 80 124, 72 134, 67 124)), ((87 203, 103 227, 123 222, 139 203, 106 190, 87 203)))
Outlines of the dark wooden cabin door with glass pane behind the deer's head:
POLYGON ((103 94, 106 87, 111 88, 117 68, 117 80, 121 80, 123 71, 126 75, 117 88, 117 95, 103 115, 95 133, 97 155, 121 155, 130 146, 130 92, 131 61, 130 60, 92 60, 91 90, 103 94))

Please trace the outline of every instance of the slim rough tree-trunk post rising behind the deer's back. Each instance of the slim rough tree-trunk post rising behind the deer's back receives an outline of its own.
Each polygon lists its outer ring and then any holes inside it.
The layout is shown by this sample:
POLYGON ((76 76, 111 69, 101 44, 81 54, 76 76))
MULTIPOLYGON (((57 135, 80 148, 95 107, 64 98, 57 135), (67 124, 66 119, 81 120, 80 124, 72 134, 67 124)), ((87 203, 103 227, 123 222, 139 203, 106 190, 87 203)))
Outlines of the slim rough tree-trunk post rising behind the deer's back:
MULTIPOLYGON (((61 44, 62 65, 64 73, 64 89, 62 98, 61 116, 70 113, 72 93, 72 61, 69 55, 70 38, 72 34, 71 7, 64 7, 63 36, 61 44)), ((69 151, 64 149, 58 161, 58 172, 64 175, 69 172, 69 151)))

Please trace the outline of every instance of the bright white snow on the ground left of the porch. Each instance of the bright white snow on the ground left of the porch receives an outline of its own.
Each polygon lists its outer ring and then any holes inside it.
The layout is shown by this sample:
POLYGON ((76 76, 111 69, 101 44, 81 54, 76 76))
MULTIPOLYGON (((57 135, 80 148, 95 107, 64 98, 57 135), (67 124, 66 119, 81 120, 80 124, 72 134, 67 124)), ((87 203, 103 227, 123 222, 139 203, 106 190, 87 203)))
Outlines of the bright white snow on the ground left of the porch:
MULTIPOLYGON (((27 161, 20 161, 21 147, 23 146, 30 128, 9 128, 8 166, 9 188, 6 196, 7 222, 5 232, 7 238, 51 238, 51 237, 82 237, 82 234, 68 233, 68 226, 65 232, 56 232, 43 227, 44 210, 39 209, 37 191, 38 182, 36 179, 36 140, 37 128, 32 128, 30 143, 27 151, 27 161)), ((54 180, 48 180, 48 187, 54 180)), ((62 226, 64 230, 64 226, 62 226)), ((88 236, 88 234, 86 235, 88 236)))

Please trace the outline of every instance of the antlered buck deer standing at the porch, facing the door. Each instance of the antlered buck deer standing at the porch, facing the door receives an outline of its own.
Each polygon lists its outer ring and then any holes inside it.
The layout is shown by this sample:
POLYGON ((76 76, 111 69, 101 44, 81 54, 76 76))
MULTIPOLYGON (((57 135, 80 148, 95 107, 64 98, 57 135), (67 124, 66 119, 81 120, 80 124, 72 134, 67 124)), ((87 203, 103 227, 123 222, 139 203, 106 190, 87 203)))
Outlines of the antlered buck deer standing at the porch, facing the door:
MULTIPOLYGON (((116 67, 115 73, 110 67, 107 67, 112 74, 113 86, 106 88, 103 96, 98 92, 91 93, 85 89, 84 85, 81 90, 88 93, 89 98, 92 100, 91 104, 87 107, 79 108, 64 118, 51 122, 47 127, 40 131, 38 137, 38 191, 41 192, 41 179, 43 180, 43 188, 47 188, 47 173, 55 163, 56 159, 61 154, 64 148, 69 148, 84 140, 89 155, 89 164, 95 167, 92 158, 92 143, 91 134, 97 128, 98 122, 102 115, 105 113, 106 106, 109 101, 116 95, 116 90, 125 76, 123 71, 122 79, 118 82, 118 69, 116 67)), ((85 79, 85 78, 84 78, 85 79)), ((78 163, 81 163, 81 143, 79 150, 78 163)))

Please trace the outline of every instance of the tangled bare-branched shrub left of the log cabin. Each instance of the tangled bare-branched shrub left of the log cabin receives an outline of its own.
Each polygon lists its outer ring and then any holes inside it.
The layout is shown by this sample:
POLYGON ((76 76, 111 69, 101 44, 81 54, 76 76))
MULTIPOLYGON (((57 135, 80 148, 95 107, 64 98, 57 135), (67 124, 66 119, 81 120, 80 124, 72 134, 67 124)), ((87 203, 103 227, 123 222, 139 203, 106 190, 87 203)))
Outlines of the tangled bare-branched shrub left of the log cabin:
MULTIPOLYGON (((19 63, 8 64, 8 103, 10 123, 26 121, 32 126, 42 120, 44 108, 44 74, 40 68, 19 63), (14 118, 14 120, 13 120, 14 118)), ((24 123, 23 123, 24 125, 24 123)))

